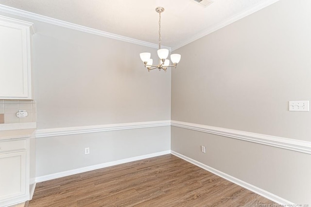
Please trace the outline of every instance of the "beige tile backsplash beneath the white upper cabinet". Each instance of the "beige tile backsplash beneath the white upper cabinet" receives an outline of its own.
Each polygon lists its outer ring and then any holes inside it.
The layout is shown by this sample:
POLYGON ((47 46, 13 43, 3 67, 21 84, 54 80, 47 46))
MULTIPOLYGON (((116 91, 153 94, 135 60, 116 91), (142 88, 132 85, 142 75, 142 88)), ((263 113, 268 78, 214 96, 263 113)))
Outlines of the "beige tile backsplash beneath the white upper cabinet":
POLYGON ((0 124, 36 122, 36 101, 0 100, 0 124), (18 118, 18 110, 28 112, 27 117, 18 118))

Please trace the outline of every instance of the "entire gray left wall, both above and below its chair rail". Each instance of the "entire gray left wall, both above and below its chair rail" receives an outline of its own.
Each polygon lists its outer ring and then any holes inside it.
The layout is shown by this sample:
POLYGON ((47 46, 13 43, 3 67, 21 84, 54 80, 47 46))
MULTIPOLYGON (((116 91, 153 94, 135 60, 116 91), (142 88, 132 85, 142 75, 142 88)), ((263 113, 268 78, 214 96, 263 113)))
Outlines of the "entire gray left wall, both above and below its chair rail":
MULTIPOLYGON (((148 73, 139 58, 145 51, 156 58, 155 48, 0 15, 35 25, 37 129, 171 120, 171 72, 148 73)), ((36 139, 36 176, 166 150, 170 127, 44 137, 36 139)))

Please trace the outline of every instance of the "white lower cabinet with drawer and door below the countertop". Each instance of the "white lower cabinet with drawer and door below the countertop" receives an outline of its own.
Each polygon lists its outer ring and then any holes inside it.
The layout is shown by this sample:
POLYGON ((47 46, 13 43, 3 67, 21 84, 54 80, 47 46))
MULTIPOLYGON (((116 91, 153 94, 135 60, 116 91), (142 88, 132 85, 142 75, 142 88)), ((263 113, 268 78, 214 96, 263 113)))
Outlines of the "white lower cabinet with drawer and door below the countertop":
POLYGON ((29 200, 28 140, 0 141, 0 207, 29 200))

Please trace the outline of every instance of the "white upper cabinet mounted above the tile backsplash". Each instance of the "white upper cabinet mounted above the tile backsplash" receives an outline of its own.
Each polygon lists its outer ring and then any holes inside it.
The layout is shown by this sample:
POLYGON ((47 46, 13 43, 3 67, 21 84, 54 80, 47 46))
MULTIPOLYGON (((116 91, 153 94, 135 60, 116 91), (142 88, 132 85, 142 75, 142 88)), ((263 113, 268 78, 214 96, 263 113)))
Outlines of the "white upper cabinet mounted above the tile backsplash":
POLYGON ((0 99, 32 99, 33 23, 0 16, 0 99))

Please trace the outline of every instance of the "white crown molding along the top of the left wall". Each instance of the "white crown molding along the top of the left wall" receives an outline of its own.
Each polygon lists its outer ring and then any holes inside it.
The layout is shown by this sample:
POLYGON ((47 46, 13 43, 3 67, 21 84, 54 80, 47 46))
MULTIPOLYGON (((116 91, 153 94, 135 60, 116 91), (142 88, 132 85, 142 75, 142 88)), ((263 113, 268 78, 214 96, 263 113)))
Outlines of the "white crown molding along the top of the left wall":
MULTIPOLYGON (((129 42, 129 43, 133 43, 136 45, 141 45, 141 46, 146 46, 149 48, 158 48, 158 44, 154 44, 154 43, 149 43, 149 42, 145 42, 145 41, 141 41, 138 39, 133 39, 130 37, 125 37, 125 36, 121 36, 118 34, 113 34, 113 33, 109 33, 109 32, 104 32, 101 30, 96 30, 93 28, 89 28, 89 27, 85 27, 85 26, 81 26, 78 24, 73 24, 70 22, 66 22, 66 21, 62 21, 59 19, 54 19, 48 16, 42 16, 42 15, 38 15, 35 13, 31 13, 31 12, 27 12, 24 10, 20 10, 20 9, 16 9, 13 7, 9 7, 9 6, 5 6, 5 5, 1 5, 0 4, 0 12, 5 12, 8 14, 12 14, 12 15, 17 15, 17 16, 23 16, 26 18, 30 18, 30 19, 34 19, 37 21, 42 21, 42 22, 46 22, 46 23, 50 23, 53 25, 57 25, 57 26, 61 26, 61 27, 65 27, 65 28, 69 28, 69 29, 73 29, 73 30, 78 30, 78 31, 82 31, 82 32, 87 32, 87 33, 91 33, 91 34, 95 34, 95 35, 100 35, 103 37, 107 37, 107 38, 111 38, 111 39, 116 39, 116 40, 120 40, 123 42, 129 42)), ((170 47, 165 47, 165 46, 161 46, 162 48, 166 48, 170 51, 172 51, 172 49, 170 47)))

